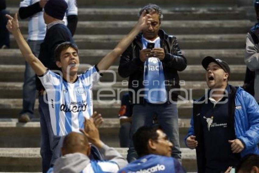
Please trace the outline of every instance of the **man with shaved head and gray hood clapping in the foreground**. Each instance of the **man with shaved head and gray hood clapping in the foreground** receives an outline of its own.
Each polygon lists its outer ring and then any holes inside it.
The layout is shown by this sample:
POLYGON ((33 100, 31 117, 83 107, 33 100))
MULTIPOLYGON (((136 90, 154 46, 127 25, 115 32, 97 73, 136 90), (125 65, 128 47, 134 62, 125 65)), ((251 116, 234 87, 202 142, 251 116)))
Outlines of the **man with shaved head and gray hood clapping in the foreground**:
POLYGON ((92 118, 85 119, 83 133, 71 132, 63 142, 62 157, 56 160, 48 173, 86 173, 118 172, 128 162, 114 148, 105 145, 99 137, 99 131, 92 118), (104 160, 90 160, 90 145, 94 144, 104 156, 104 160))

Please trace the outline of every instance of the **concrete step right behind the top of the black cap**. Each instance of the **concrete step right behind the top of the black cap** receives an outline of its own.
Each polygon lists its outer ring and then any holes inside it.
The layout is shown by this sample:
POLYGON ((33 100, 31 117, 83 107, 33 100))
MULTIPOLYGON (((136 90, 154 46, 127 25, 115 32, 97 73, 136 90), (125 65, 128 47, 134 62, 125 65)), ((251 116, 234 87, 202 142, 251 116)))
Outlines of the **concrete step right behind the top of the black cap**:
MULTIPOLYGON (((211 43, 214 44, 214 43, 211 43)), ((180 45, 181 46, 181 45, 180 45)), ((79 50, 80 63, 94 65, 111 50, 79 50)), ((244 49, 182 49, 188 65, 200 65, 206 56, 218 57, 229 64, 244 64, 244 49)), ((114 65, 119 65, 119 59, 114 65)), ((0 62, 5 65, 24 65, 24 59, 19 49, 0 49, 0 62)))

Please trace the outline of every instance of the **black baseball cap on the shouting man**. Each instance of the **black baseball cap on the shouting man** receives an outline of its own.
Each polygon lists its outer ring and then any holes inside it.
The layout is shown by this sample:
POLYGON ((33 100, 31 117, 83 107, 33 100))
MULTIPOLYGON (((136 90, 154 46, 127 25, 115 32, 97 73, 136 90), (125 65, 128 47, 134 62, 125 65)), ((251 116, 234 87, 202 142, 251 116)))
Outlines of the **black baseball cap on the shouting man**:
POLYGON ((215 59, 214 57, 208 56, 202 60, 201 64, 202 64, 203 68, 205 68, 205 70, 207 70, 207 67, 211 62, 215 62, 216 64, 218 64, 224 70, 224 72, 226 72, 230 75, 229 64, 226 61, 223 61, 221 59, 215 59))

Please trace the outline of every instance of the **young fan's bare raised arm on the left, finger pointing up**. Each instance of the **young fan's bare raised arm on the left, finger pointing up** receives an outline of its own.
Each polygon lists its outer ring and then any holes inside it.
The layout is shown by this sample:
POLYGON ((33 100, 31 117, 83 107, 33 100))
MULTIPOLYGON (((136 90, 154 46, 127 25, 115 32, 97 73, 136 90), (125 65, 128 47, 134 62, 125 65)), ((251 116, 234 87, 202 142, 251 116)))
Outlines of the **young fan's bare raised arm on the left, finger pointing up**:
POLYGON ((14 18, 8 14, 6 15, 6 17, 8 18, 6 28, 8 29, 8 31, 12 32, 23 54, 24 59, 30 64, 37 75, 43 75, 46 72, 47 68, 41 63, 41 61, 37 57, 34 56, 32 51, 30 50, 29 45, 24 40, 23 35, 21 34, 19 29, 17 13, 15 13, 14 18))

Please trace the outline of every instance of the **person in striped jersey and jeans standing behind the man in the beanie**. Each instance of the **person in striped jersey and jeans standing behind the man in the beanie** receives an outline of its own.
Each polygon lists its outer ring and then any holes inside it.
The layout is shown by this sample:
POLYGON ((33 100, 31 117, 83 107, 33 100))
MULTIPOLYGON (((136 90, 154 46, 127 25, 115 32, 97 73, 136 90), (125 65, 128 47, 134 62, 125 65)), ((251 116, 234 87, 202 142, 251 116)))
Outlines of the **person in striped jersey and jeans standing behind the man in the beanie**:
MULTIPOLYGON (((20 2, 19 16, 21 19, 29 19, 27 42, 36 57, 39 57, 40 46, 46 34, 43 8, 47 2, 48 0, 23 0, 20 2)), ((74 35, 77 25, 76 0, 66 0, 66 2, 68 9, 62 20, 67 24, 72 35, 74 35)), ((6 17, 4 18, 6 19, 6 17)), ((5 28, 5 25, 2 25, 2 27, 5 28)), ((27 123, 30 119, 34 118, 34 104, 36 99, 35 80, 35 72, 26 62, 23 83, 23 108, 19 113, 18 119, 21 123, 27 123)))

